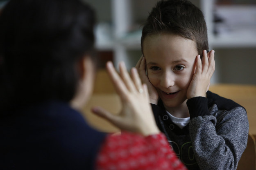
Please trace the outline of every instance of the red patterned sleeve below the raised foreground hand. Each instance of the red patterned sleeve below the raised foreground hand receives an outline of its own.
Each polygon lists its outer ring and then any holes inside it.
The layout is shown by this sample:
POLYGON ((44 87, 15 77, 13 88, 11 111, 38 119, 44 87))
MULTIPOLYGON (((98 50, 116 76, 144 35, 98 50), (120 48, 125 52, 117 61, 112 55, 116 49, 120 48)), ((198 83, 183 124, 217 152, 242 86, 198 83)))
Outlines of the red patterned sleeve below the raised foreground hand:
POLYGON ((186 170, 163 134, 122 132, 108 135, 96 160, 96 170, 186 170))

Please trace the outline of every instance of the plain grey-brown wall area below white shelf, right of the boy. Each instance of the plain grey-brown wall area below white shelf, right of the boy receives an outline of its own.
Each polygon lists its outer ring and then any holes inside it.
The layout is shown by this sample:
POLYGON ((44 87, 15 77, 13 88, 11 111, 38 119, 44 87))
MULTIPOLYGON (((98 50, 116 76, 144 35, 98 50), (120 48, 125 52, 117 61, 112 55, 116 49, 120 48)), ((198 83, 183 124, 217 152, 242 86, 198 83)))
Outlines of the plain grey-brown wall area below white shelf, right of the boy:
POLYGON ((218 82, 256 85, 256 48, 215 49, 218 82))

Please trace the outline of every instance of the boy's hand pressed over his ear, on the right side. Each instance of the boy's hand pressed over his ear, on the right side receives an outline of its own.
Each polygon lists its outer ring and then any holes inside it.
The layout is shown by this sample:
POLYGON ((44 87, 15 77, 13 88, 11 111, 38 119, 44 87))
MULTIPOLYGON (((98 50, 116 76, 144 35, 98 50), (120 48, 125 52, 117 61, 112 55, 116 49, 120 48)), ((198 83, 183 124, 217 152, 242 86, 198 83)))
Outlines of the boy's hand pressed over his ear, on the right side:
POLYGON ((206 97, 211 77, 215 71, 214 50, 211 50, 208 54, 206 50, 204 50, 202 62, 200 60, 200 55, 197 55, 195 65, 195 73, 188 86, 188 99, 198 96, 206 97))

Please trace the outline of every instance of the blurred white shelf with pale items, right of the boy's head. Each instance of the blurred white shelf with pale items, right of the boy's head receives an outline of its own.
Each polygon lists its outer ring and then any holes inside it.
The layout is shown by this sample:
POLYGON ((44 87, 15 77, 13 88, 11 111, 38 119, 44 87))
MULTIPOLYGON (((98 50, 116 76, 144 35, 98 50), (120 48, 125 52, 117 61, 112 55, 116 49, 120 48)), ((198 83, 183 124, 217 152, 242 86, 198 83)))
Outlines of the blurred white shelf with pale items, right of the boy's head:
POLYGON ((256 47, 256 6, 215 6, 222 21, 213 23, 217 35, 209 34, 209 44, 218 48, 256 47))

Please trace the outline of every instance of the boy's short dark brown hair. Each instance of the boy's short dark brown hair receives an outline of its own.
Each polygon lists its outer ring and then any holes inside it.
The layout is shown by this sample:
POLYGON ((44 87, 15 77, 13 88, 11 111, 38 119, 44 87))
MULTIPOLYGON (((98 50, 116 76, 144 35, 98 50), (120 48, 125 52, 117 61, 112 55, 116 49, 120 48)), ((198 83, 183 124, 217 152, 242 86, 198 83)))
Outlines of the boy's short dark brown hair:
MULTIPOLYGON (((171 33, 196 42, 198 54, 208 50, 202 11, 187 0, 161 0, 150 12, 142 30, 141 50, 147 35, 171 33)), ((143 53, 144 55, 144 53, 143 53)))

